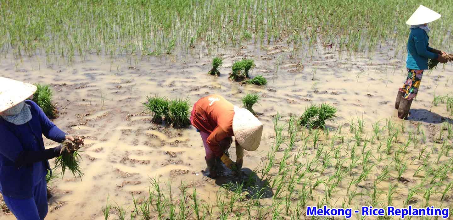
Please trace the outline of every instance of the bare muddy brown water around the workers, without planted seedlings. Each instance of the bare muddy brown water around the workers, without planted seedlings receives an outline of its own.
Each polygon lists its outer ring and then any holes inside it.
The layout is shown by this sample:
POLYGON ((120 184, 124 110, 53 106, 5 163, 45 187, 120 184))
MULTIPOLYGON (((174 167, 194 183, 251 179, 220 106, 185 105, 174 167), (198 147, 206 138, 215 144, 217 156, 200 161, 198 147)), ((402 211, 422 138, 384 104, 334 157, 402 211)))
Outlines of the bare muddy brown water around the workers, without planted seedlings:
MULTIPOLYGON (((222 50, 225 67, 220 69, 220 77, 207 75, 212 55, 197 49, 184 57, 143 57, 139 62, 130 62, 128 57, 95 55, 86 61, 76 58, 70 64, 63 60, 49 62, 46 57, 22 57, 20 62, 2 57, 1 76, 52 84, 53 100, 60 112, 53 122, 68 134, 86 137, 81 153, 85 176, 81 181, 67 173, 50 185, 53 197, 46 220, 100 220, 107 196, 111 203, 130 207, 131 193, 143 196, 148 192, 149 177, 162 182, 173 180, 175 189, 182 180, 197 187, 202 199, 215 201, 219 182, 228 180, 216 182, 203 176, 206 163, 199 134, 193 127, 172 129, 151 124, 152 116, 143 113, 141 104, 147 95, 188 97, 193 104, 217 93, 241 105, 245 94, 260 93, 260 103, 254 110, 261 114, 259 119, 265 129, 260 148, 246 152, 243 167, 250 170, 260 166, 272 145, 271 116, 280 113, 287 119, 290 114, 300 115, 311 103, 325 102, 338 108, 336 122, 328 122, 331 127, 349 123, 357 116, 363 116, 370 132, 372 123, 388 118, 410 126, 396 117, 394 109, 397 89, 407 75, 404 58, 394 58, 391 51, 385 50, 370 58, 368 54, 350 56, 319 48, 313 58, 300 54, 290 59, 290 48, 284 44, 267 49, 250 44, 242 49, 222 50), (243 57, 255 60, 251 75, 263 75, 267 86, 240 85, 227 79, 232 62, 243 57)), ((412 104, 412 119, 428 126, 439 125, 443 117, 449 116, 444 105, 433 106, 431 101, 434 93, 451 91, 452 71, 448 64, 425 72, 412 104)), ((47 139, 45 144, 48 148, 57 145, 47 139)), ((235 158, 234 147, 231 153, 235 158)), ((417 166, 410 165, 408 172, 417 166)), ((333 200, 346 195, 346 188, 335 195, 333 200)), ((0 218, 10 220, 14 216, 0 213, 0 218)))

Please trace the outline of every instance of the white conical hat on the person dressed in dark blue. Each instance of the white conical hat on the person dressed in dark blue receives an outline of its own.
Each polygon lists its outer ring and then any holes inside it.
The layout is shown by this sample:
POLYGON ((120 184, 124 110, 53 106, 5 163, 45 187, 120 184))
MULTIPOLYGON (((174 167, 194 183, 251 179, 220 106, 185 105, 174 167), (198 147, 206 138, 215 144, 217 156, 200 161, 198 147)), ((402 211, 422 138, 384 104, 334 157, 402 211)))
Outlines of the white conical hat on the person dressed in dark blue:
POLYGON ((10 78, 0 77, 0 112, 26 100, 36 91, 36 86, 10 78))

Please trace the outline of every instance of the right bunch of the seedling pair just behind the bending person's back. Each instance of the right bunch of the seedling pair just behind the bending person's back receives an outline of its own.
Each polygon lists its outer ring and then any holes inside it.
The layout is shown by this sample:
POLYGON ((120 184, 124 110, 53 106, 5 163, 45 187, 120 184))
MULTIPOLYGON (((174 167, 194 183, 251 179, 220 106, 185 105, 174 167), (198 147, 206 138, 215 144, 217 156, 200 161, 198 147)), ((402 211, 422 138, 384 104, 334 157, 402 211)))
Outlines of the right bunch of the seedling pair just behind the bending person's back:
POLYGON ((189 100, 171 100, 168 107, 167 121, 174 127, 183 128, 190 124, 190 104, 189 100))

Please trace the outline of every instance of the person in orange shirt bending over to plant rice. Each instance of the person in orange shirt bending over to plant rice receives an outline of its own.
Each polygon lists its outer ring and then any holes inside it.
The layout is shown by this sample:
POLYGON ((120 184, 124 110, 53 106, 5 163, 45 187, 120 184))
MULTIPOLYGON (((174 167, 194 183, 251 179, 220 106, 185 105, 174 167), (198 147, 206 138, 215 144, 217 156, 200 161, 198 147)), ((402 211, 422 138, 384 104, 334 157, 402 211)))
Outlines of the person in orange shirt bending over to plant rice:
POLYGON ((206 151, 206 164, 212 178, 217 177, 216 158, 233 171, 239 171, 244 162, 244 149, 254 151, 260 145, 263 124, 249 110, 241 109, 222 96, 201 98, 193 105, 190 116, 198 129, 206 151), (236 163, 225 154, 236 139, 236 163))

